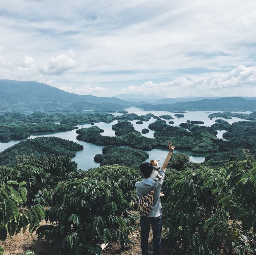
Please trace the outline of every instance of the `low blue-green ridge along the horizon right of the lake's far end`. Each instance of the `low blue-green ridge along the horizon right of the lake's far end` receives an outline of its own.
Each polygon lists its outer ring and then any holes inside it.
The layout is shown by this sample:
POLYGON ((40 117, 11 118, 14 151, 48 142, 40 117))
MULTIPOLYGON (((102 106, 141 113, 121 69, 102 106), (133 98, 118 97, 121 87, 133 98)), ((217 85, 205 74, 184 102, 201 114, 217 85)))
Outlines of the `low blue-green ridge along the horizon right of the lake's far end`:
POLYGON ((242 97, 225 97, 218 99, 202 99, 199 101, 177 102, 172 104, 142 104, 138 108, 144 110, 161 110, 161 111, 256 111, 256 100, 247 100, 242 97))

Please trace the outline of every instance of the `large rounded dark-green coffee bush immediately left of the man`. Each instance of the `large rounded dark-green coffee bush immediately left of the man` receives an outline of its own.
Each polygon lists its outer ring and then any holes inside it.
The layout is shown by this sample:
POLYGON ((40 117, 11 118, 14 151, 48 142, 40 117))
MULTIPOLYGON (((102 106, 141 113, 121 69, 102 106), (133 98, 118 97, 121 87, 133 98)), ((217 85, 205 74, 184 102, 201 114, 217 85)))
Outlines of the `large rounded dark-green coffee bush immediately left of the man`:
POLYGON ((129 203, 114 181, 93 178, 62 182, 52 196, 53 206, 40 226, 40 238, 54 243, 55 254, 101 254, 101 243, 117 241, 124 247, 130 240, 129 220, 122 213, 129 203))

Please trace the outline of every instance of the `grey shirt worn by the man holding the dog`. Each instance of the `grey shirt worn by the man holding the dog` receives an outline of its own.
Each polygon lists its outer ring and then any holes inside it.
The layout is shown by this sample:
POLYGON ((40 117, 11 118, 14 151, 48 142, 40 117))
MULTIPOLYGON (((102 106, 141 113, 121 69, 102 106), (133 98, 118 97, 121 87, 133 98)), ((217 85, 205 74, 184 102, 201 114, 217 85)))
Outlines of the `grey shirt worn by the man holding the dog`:
MULTIPOLYGON (((156 181, 156 188, 154 191, 154 196, 153 196, 153 206, 152 206, 152 211, 150 212, 149 215, 146 217, 159 217, 162 215, 162 205, 160 201, 160 190, 164 182, 164 177, 165 177, 165 171, 161 169, 160 173, 162 176, 162 179, 158 180, 154 178, 154 181, 156 181)), ((144 196, 150 193, 151 190, 153 190, 154 182, 152 178, 148 179, 143 179, 142 181, 137 181, 135 183, 136 191, 137 191, 137 196, 144 196)))

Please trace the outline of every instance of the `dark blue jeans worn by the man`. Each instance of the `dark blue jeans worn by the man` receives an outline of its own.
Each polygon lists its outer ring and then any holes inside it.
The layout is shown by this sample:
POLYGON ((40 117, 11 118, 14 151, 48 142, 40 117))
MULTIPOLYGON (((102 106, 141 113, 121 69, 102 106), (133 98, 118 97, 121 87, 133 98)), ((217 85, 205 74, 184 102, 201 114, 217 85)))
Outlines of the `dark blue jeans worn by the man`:
POLYGON ((159 217, 140 217, 140 237, 142 255, 149 255, 149 229, 153 231, 154 255, 159 255, 161 250, 162 215, 159 217))

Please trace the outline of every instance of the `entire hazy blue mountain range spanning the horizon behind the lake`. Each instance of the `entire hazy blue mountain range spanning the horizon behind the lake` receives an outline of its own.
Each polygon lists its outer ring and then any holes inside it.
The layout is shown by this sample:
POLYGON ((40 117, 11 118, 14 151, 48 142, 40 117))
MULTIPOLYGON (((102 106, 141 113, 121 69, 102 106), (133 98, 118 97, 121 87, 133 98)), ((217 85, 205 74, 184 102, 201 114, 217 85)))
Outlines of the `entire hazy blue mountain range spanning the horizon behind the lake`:
POLYGON ((161 98, 153 94, 116 96, 121 98, 77 95, 36 81, 0 79, 0 112, 115 112, 131 106, 164 111, 256 111, 256 98, 253 97, 161 98))

